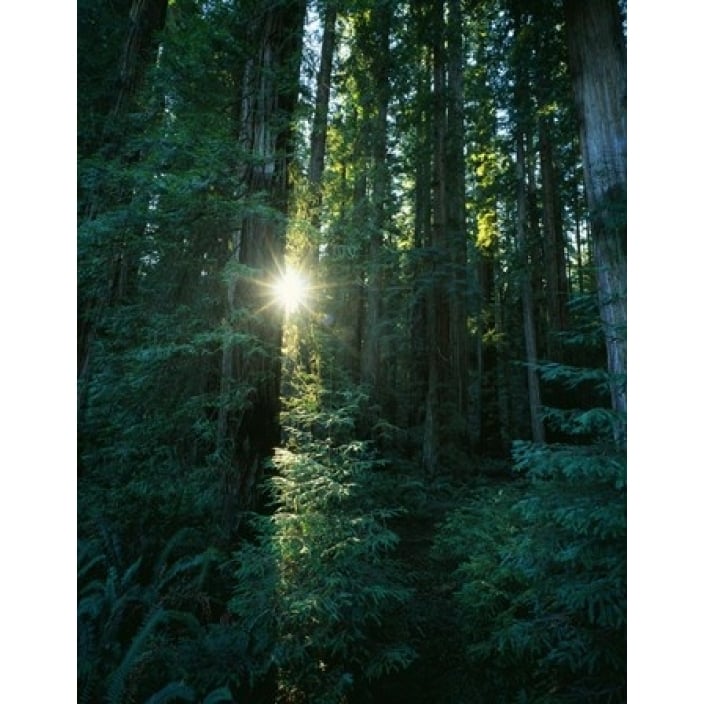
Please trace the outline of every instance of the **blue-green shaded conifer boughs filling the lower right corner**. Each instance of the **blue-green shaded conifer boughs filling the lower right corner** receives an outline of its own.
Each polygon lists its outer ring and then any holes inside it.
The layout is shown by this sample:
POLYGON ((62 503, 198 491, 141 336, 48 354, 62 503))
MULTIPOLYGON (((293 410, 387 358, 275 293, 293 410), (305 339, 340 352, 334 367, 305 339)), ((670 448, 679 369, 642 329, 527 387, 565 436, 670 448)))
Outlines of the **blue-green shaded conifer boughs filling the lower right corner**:
MULTIPOLYGON (((543 370, 568 385, 604 377, 543 370)), ((600 408, 562 412, 571 444, 514 442, 520 480, 478 490, 440 527, 435 556, 454 569, 479 701, 625 701, 626 458, 613 422, 600 408)))

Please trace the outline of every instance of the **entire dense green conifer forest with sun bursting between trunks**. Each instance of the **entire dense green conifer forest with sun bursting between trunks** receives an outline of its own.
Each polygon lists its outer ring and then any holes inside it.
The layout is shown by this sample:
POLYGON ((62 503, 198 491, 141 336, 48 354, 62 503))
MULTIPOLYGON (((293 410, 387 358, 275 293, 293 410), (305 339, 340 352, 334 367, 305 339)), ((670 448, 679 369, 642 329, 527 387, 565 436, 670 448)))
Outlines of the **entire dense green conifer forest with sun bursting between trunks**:
POLYGON ((626 701, 626 6, 77 1, 81 704, 626 701))

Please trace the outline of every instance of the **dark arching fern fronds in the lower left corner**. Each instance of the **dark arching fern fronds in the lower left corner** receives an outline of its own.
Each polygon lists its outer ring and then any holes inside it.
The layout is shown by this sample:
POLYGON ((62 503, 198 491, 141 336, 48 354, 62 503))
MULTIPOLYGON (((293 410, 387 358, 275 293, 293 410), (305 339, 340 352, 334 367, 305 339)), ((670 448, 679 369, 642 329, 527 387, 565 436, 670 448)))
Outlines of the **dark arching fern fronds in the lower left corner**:
MULTIPOLYGON (((190 651, 208 652, 218 635, 217 626, 208 624, 214 606, 209 590, 222 558, 214 550, 193 554, 192 537, 180 531, 158 553, 126 567, 122 549, 107 534, 102 541, 79 542, 80 702, 121 704, 146 698, 159 686, 154 702, 195 701, 195 692, 222 683, 227 670, 217 671, 217 657, 202 669, 184 671, 184 665, 198 663, 188 658, 190 651), (181 672, 188 685, 163 686, 181 672)), ((229 657, 237 636, 232 631, 220 638, 218 647, 229 657)))

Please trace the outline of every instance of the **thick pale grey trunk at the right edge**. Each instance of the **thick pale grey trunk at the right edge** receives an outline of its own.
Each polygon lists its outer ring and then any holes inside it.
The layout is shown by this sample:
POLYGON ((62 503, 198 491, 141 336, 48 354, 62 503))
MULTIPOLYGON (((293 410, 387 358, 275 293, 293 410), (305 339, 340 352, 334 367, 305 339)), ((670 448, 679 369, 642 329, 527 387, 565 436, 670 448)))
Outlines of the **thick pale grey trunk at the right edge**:
MULTIPOLYGON (((616 0, 565 0, 611 403, 626 412, 626 53, 616 0)), ((615 428, 619 443, 625 428, 615 428)))

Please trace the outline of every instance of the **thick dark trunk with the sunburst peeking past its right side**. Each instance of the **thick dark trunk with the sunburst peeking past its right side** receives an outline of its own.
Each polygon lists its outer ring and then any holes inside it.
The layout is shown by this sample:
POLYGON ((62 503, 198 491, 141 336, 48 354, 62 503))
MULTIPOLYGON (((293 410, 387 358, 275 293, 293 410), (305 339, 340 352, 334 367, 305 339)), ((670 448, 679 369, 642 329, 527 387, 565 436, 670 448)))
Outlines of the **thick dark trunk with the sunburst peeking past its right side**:
MULTIPOLYGON (((258 52, 245 72, 242 137, 252 160, 247 187, 251 194, 267 194, 274 211, 248 215, 242 223, 239 261, 258 272, 258 280, 238 282, 240 304, 248 309, 246 331, 260 350, 237 350, 236 376, 251 386, 246 409, 230 418, 234 447, 231 465, 223 470, 226 525, 237 530, 241 511, 255 503, 253 489, 265 459, 280 442, 282 314, 267 306, 268 288, 259 281, 276 277, 283 261, 285 216, 288 208, 291 120, 298 94, 304 0, 270 6, 255 25, 258 52)), ((223 362, 223 373, 228 366, 223 362)))

